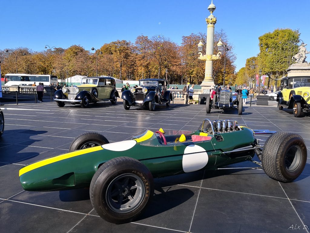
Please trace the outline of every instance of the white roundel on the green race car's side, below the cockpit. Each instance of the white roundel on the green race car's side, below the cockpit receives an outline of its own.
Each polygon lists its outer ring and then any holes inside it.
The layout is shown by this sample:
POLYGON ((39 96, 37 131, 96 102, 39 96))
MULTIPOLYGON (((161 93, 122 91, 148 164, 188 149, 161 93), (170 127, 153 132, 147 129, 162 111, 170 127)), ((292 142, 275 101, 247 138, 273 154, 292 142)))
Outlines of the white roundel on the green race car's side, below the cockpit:
POLYGON ((182 166, 185 172, 197 171, 208 163, 208 154, 198 145, 189 145, 184 150, 182 166))

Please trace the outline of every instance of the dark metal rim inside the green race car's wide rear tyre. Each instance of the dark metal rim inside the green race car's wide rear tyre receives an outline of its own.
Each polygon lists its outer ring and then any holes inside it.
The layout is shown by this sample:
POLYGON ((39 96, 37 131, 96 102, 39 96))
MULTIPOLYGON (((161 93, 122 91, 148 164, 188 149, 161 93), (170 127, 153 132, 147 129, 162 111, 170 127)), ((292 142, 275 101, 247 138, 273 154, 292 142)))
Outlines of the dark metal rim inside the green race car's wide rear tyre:
POLYGON ((299 146, 293 145, 291 146, 284 158, 285 168, 289 172, 294 172, 299 168, 302 159, 302 152, 299 146))

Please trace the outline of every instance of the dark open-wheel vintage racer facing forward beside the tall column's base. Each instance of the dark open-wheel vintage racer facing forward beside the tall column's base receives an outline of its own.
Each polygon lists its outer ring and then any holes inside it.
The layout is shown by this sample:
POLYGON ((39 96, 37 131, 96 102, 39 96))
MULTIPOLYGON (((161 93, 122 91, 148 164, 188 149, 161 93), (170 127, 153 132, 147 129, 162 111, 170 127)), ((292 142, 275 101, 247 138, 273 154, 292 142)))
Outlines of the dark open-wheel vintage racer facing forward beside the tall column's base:
POLYGON ((211 108, 223 109, 237 109, 238 114, 242 115, 242 97, 232 90, 223 88, 219 94, 214 95, 213 100, 210 96, 206 97, 206 113, 211 112, 211 108))

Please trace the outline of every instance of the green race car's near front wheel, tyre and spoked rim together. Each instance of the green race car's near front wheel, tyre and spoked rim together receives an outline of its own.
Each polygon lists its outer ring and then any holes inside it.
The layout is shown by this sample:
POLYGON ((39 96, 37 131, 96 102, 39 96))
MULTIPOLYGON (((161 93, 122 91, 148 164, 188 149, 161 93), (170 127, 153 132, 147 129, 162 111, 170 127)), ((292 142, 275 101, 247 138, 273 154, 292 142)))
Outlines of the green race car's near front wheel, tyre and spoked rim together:
POLYGON ((131 222, 154 194, 153 176, 134 158, 113 158, 96 171, 89 194, 95 211, 105 221, 131 222))

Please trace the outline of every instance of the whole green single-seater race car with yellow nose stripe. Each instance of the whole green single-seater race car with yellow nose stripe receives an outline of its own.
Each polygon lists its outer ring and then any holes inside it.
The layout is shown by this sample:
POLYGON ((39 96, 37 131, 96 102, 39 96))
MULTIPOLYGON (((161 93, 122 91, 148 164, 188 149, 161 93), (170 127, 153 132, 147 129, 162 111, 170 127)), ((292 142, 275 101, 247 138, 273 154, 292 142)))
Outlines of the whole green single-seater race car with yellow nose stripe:
MULTIPOLYGON (((130 222, 153 196, 153 178, 252 161, 272 179, 291 182, 303 171, 307 148, 289 132, 251 130, 236 121, 205 119, 188 135, 163 130, 109 143, 98 133, 75 138, 70 152, 24 166, 25 190, 55 191, 90 187, 96 212, 112 223, 130 222), (262 146, 255 134, 273 133, 262 146), (253 161, 257 154, 260 162, 253 161)), ((257 168, 257 167, 256 167, 257 168)))

